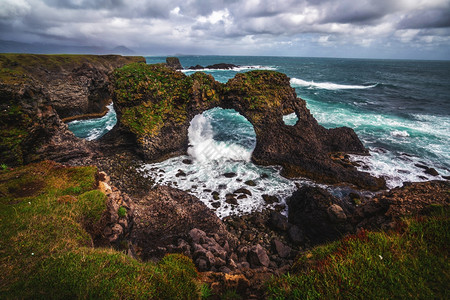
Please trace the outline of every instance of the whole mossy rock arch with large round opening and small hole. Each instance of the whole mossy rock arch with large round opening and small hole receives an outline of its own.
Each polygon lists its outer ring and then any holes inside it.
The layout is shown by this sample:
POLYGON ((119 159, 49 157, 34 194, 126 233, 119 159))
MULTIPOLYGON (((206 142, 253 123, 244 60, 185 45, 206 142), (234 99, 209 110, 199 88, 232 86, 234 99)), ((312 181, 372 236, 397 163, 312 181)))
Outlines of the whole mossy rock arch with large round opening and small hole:
POLYGON ((221 107, 236 110, 253 125, 252 160, 257 164, 281 165, 286 177, 347 182, 372 190, 384 186, 382 179, 332 159, 336 152, 368 152, 352 129, 319 125, 285 74, 251 71, 222 84, 205 73, 186 76, 162 64, 132 64, 115 72, 114 87, 117 132, 131 134, 148 161, 185 154, 191 119, 221 107), (285 125, 283 115, 292 112, 298 122, 285 125))

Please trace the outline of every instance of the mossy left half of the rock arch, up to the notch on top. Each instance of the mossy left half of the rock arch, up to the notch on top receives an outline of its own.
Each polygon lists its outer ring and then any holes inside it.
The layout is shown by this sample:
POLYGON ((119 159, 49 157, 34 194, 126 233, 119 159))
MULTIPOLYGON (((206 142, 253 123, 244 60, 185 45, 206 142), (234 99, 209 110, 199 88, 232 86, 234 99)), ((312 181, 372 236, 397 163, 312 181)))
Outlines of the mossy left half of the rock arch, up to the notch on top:
POLYGON ((114 72, 119 128, 131 132, 147 159, 183 153, 190 120, 220 102, 212 76, 186 76, 164 64, 131 64, 114 72))

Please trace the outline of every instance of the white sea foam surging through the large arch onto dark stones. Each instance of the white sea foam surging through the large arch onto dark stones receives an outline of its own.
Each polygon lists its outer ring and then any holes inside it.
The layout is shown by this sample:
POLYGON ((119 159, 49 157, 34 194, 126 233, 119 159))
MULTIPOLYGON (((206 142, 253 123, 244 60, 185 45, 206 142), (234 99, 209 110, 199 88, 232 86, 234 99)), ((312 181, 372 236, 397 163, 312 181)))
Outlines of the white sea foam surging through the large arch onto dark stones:
MULTIPOLYGON (((228 120, 233 119, 230 117, 233 112, 227 113, 230 114, 228 120)), ((215 141, 210 117, 213 116, 205 112, 191 121, 188 130, 189 156, 147 164, 143 169, 148 176, 156 184, 177 187, 197 196, 220 218, 285 205, 285 199, 296 189, 295 183, 282 177, 278 168, 253 164, 250 161, 253 150, 232 142, 215 141), (183 163, 185 160, 190 160, 191 163, 183 163), (225 176, 227 173, 228 176, 225 176), (246 184, 248 180, 253 181, 255 186, 246 184), (251 195, 243 198, 242 193, 234 193, 242 188, 251 195), (216 197, 213 192, 217 193, 216 197), (235 194, 235 199, 241 196, 241 199, 237 199, 237 204, 227 203, 226 195, 232 193, 235 194), (264 202, 263 195, 276 196, 279 202, 268 205, 264 202)))

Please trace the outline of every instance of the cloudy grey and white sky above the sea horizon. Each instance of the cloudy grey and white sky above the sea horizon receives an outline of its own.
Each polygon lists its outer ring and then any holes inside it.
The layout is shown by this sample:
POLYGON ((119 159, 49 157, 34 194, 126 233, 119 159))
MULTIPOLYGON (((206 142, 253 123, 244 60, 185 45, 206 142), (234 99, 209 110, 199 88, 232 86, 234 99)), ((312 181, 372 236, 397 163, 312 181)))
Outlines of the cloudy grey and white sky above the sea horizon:
POLYGON ((450 59, 450 0, 0 0, 0 40, 141 55, 450 59))

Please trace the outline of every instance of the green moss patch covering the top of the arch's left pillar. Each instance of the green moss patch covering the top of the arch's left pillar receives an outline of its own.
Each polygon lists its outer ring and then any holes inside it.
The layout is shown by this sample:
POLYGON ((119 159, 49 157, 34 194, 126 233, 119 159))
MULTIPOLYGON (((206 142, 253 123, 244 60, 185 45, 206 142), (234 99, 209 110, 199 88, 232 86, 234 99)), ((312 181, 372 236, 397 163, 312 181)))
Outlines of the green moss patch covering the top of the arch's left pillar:
POLYGON ((155 136, 167 122, 187 120, 192 79, 164 65, 130 64, 114 73, 121 123, 137 136, 155 136))

